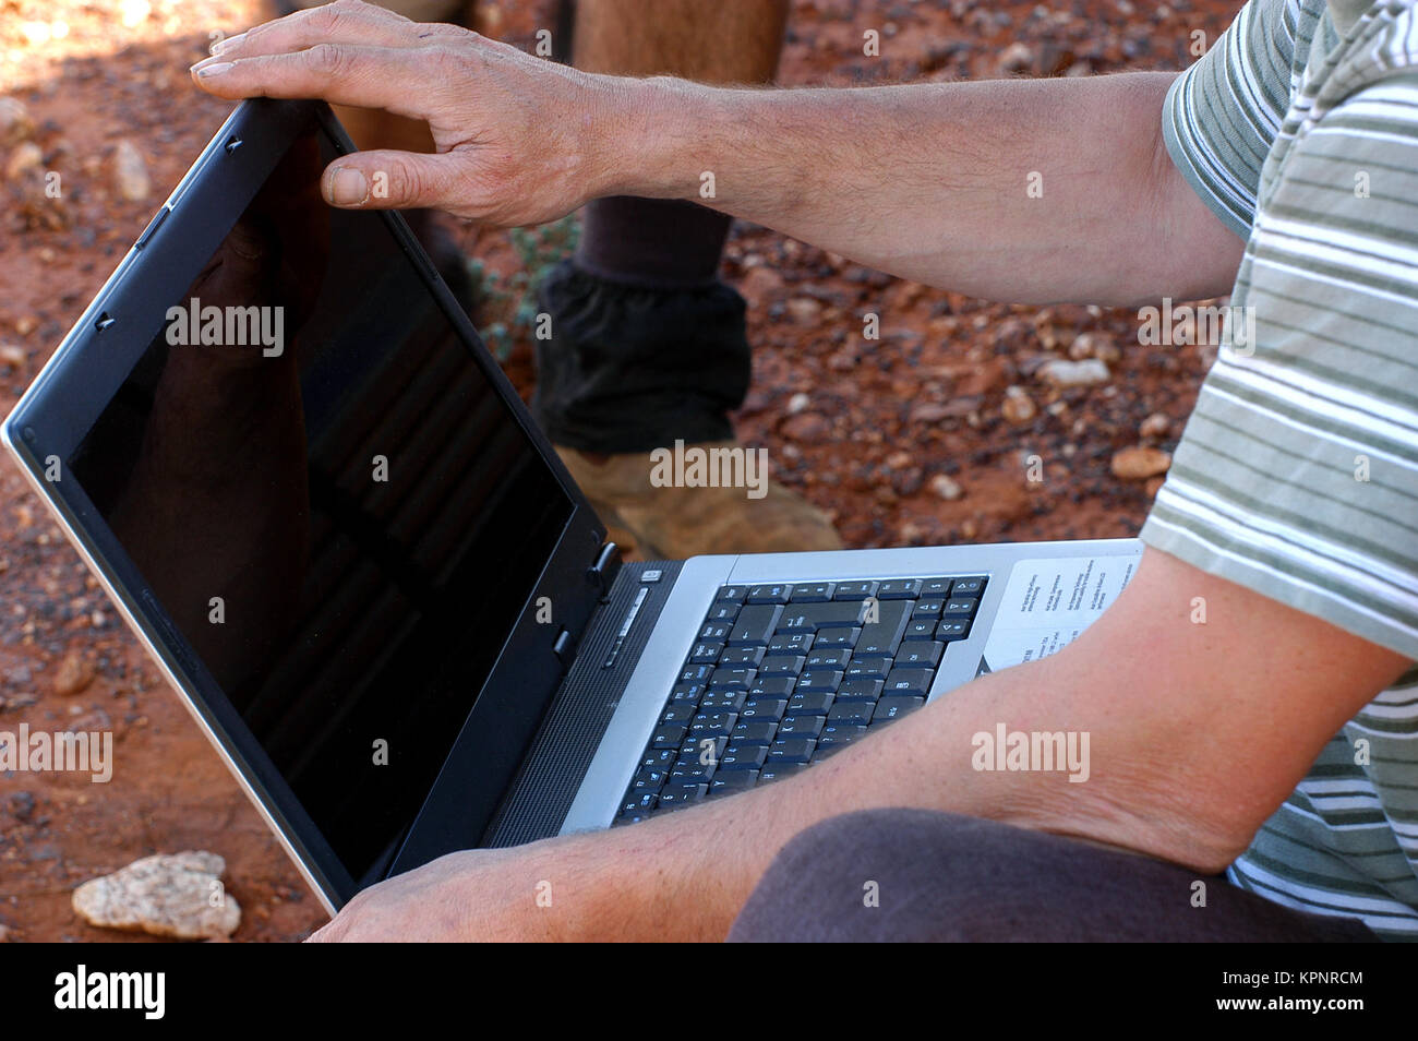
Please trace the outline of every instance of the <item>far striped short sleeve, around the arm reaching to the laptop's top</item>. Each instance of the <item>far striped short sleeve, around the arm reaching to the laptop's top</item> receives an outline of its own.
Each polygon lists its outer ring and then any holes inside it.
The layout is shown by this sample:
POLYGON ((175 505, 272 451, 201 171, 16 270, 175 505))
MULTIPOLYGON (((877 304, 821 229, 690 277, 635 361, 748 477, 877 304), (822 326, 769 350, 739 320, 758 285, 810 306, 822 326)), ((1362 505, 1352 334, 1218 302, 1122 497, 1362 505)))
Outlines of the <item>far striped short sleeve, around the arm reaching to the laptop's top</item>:
POLYGON ((1290 105, 1323 0, 1251 0, 1163 104, 1163 139, 1187 183, 1241 238, 1261 167, 1290 105))

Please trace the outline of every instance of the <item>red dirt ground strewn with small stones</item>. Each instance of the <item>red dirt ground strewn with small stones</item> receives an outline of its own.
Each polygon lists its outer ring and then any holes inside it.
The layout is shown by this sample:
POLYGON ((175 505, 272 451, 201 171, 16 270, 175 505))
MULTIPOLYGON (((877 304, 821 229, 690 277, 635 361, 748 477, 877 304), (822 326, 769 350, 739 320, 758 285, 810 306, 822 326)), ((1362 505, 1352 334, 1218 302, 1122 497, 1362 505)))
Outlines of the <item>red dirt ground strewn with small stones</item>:
MULTIPOLYGON (((708 0, 706 0, 708 1, 708 0)), ((550 3, 488 4, 527 47, 550 3)), ((797 0, 781 79, 862 84, 990 77, 1010 51, 1027 75, 1181 68, 1239 3, 1129 0, 966 3, 797 0), (876 28, 882 57, 862 55, 876 28)), ((262 20, 257 0, 0 0, 0 96, 37 126, 60 170, 67 227, 27 227, 0 177, 0 408, 9 410, 187 169, 228 106, 200 95, 187 65, 216 33, 262 20), (123 14, 128 14, 125 24, 123 14), (130 140, 152 193, 123 201, 113 152, 130 140)), ((0 170, 13 143, 0 142, 0 170)), ((502 233, 461 228, 469 252, 509 274, 502 233)), ((830 509, 852 546, 1133 535, 1150 486, 1120 482, 1115 451, 1170 450, 1195 400, 1207 347, 1141 347, 1133 312, 986 305, 902 282, 753 227, 725 268, 750 302, 754 389, 739 417, 776 475, 830 509), (861 315, 882 316, 871 352, 861 315), (1081 333, 1116 347, 1109 384, 1054 391, 1034 372, 1081 333), (1008 423, 1005 389, 1038 406, 1008 423), (1139 427, 1161 413, 1167 421, 1139 427), (1046 479, 1025 481, 1039 454, 1046 479), (933 485, 963 489, 943 499, 933 485)), ((1082 349, 1083 345, 1075 345, 1082 349)), ((523 393, 530 349, 509 370, 523 393)), ((0 937, 145 939, 94 929, 69 909, 79 882, 152 852, 213 850, 244 916, 238 940, 295 940, 323 912, 217 755, 166 689, 13 465, 0 465, 0 729, 112 729, 118 769, 94 786, 65 774, 0 776, 0 937), (61 694, 78 686, 72 694, 61 694)))

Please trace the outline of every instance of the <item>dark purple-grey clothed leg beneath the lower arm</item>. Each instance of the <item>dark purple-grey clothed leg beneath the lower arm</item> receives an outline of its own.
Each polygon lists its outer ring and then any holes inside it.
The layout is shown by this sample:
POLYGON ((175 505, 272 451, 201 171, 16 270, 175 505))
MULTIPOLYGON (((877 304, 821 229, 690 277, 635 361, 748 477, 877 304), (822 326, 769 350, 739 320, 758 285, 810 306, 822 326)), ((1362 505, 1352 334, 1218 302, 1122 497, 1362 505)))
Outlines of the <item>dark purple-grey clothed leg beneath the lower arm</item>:
POLYGON ((736 942, 1377 939, 1357 919, 1282 908, 1221 876, 929 810, 866 810, 807 828, 729 932, 736 942))

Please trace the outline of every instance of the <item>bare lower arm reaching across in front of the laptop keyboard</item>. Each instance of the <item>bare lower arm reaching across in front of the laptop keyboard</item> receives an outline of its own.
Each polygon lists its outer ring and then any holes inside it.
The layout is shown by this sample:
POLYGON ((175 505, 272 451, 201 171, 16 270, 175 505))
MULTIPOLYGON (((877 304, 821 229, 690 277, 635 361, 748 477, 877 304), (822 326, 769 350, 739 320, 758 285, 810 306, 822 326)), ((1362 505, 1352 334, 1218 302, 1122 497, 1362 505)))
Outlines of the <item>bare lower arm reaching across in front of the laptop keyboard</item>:
POLYGON ((1117 603, 1051 658, 967 684, 786 781, 605 833, 452 854, 360 894, 320 939, 718 940, 794 834, 872 807, 987 817, 1217 872, 1404 667, 1149 549, 1117 603), (976 772, 973 736, 1001 722, 1086 730, 1088 780, 976 772), (539 906, 547 884, 552 905, 539 906))

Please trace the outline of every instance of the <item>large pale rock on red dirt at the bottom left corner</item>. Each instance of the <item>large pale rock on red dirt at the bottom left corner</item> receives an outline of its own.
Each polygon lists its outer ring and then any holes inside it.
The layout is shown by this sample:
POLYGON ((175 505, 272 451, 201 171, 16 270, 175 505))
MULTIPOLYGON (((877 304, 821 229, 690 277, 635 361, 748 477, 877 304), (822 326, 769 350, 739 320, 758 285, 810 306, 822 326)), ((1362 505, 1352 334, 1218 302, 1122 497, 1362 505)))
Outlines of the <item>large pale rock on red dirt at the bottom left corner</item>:
POLYGON ((225 869, 221 857, 204 850, 143 857, 78 886, 74 912, 102 929, 223 939, 241 923, 241 908, 221 888, 225 869))

